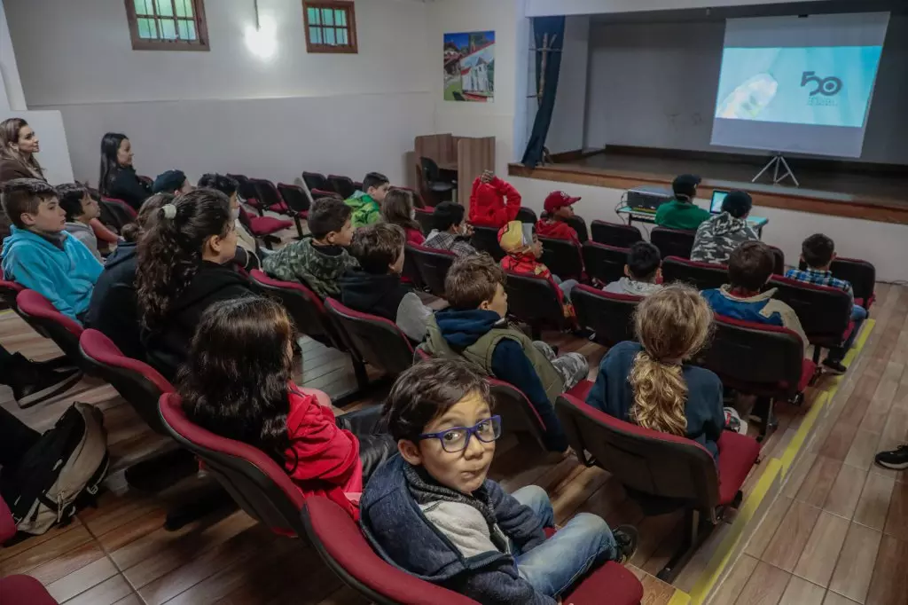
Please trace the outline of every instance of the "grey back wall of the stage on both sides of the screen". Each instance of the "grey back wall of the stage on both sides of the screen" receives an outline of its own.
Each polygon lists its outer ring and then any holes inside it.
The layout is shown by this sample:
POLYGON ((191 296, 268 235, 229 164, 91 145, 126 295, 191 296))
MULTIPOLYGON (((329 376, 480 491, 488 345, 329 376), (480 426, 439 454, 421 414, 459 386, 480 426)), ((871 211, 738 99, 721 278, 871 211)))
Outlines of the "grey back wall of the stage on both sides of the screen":
MULTIPOLYGON (((725 150, 709 144, 724 36, 722 21, 594 24, 587 146, 725 150)), ((867 121, 865 162, 908 164, 906 74, 908 15, 893 15, 867 121)))

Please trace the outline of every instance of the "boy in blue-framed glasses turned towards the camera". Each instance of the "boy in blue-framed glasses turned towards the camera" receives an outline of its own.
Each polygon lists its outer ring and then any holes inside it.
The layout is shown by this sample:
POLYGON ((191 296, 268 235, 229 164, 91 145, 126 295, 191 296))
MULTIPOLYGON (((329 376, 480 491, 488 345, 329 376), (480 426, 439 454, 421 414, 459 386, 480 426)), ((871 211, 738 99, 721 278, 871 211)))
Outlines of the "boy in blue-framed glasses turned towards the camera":
POLYGON ((588 570, 629 559, 637 531, 577 514, 555 525, 546 492, 508 495, 487 479, 501 435, 489 383, 469 362, 433 359, 402 373, 384 418, 400 455, 372 475, 360 521, 385 560, 490 605, 555 605, 588 570))

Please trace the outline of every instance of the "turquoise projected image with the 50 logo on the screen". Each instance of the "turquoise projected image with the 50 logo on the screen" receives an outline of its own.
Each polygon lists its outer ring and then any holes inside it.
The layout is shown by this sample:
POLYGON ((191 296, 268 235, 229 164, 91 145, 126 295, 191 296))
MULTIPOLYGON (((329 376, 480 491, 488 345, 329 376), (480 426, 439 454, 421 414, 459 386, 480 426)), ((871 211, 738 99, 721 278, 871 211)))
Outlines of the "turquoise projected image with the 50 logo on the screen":
POLYGON ((726 48, 716 117, 864 125, 882 46, 726 48))

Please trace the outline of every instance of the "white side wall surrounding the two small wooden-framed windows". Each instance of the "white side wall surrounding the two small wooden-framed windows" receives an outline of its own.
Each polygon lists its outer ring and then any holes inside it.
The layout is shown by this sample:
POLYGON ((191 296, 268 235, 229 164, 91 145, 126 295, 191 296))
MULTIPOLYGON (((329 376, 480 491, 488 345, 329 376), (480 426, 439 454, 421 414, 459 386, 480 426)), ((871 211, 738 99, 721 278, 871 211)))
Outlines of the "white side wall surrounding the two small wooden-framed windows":
POLYGON ((29 107, 63 113, 78 178, 96 183, 111 130, 130 136, 141 174, 378 170, 402 183, 404 153, 433 126, 426 5, 358 0, 358 55, 307 54, 301 2, 259 5, 275 27, 268 59, 245 41, 252 0, 205 3, 207 53, 133 51, 123 0, 7 0, 7 17, 29 107))

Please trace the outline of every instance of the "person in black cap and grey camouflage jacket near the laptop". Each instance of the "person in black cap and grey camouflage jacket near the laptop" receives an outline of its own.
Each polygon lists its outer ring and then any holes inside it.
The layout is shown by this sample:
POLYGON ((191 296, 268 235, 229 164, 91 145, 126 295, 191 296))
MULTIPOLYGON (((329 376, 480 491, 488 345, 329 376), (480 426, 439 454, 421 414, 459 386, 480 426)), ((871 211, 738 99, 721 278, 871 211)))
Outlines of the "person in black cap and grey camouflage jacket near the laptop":
POLYGON ((753 206, 749 193, 733 191, 725 195, 722 212, 713 214, 697 227, 690 260, 725 264, 739 245, 760 239, 747 223, 747 215, 753 206))

